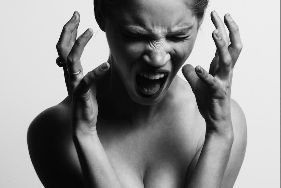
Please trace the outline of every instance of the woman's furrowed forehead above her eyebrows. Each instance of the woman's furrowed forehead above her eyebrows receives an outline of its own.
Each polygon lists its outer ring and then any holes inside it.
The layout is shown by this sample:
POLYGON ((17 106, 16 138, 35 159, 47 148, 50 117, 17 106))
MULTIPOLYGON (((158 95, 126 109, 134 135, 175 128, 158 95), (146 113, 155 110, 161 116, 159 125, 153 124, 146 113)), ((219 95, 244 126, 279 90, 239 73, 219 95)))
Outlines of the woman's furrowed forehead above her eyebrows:
POLYGON ((198 24, 186 0, 128 0, 113 11, 118 24, 125 26, 174 30, 198 24))

